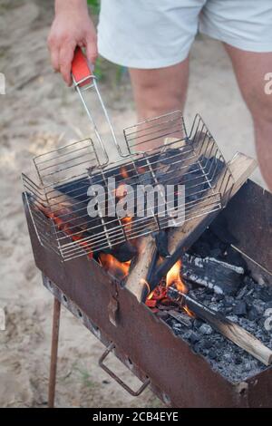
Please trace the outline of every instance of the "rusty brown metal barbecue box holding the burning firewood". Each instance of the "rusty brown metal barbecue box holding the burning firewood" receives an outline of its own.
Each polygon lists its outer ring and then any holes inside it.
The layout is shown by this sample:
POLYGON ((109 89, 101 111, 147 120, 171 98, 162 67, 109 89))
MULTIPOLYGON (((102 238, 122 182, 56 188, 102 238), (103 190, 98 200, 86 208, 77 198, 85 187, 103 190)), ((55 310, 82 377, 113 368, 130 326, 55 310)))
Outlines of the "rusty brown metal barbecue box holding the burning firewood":
MULTIPOLYGON (((270 282, 272 264, 267 247, 271 238, 267 229, 271 206, 271 194, 248 180, 219 213, 238 238, 237 249, 244 254, 248 268, 270 282)), ((271 407, 271 366, 243 382, 228 381, 96 261, 78 257, 62 262, 52 250, 41 246, 25 194, 24 208, 35 264, 44 275, 44 286, 108 348, 102 355, 102 367, 112 350, 141 382, 149 383, 161 401, 172 407, 271 407), (112 305, 116 308, 115 325, 109 316, 112 305)), ((111 375, 116 379, 115 373, 111 375)), ((123 385, 120 379, 118 382, 123 385)), ((128 391, 127 386, 125 389, 128 391)))

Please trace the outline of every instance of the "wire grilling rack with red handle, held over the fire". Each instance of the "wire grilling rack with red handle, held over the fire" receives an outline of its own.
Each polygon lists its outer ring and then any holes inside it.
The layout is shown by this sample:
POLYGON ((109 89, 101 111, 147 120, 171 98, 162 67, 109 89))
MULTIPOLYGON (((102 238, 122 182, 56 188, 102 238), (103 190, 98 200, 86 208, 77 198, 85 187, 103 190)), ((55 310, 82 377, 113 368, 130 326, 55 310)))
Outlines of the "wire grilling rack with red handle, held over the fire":
POLYGON ((22 175, 24 195, 44 247, 64 261, 86 254, 91 257, 152 232, 182 226, 227 204, 233 179, 199 115, 189 133, 180 111, 138 123, 124 130, 121 147, 95 78, 87 69, 81 78, 73 67, 75 88, 89 118, 92 114, 84 92, 97 93, 118 160, 110 160, 93 120, 98 143, 80 140, 34 158, 36 179, 22 175), (171 194, 166 191, 169 186, 171 194), (147 188, 156 188, 156 203, 147 202, 147 188), (101 189, 96 197, 94 189, 101 189), (117 203, 124 197, 131 200, 131 210, 116 214, 117 203), (94 200, 95 217, 90 215, 94 200))

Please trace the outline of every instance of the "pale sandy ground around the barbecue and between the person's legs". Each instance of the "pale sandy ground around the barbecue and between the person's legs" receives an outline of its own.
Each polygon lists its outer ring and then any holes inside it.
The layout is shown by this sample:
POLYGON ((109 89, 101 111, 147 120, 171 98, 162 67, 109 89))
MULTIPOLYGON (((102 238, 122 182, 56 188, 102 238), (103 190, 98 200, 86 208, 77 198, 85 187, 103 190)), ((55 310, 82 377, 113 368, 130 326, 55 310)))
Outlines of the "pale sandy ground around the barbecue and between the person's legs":
MULTIPOLYGON (((0 331, 0 406, 36 407, 47 401, 52 296, 41 284, 27 234, 20 173, 34 155, 88 135, 81 103, 54 74, 46 36, 53 1, 0 0, 0 307, 6 329, 0 331)), ((135 123, 127 76, 115 81, 109 64, 101 82, 118 134, 135 123)), ((251 120, 238 92, 222 46, 200 38, 191 51, 185 118, 199 112, 229 159, 240 150, 255 157, 251 120)), ((259 172, 254 175, 262 183, 259 172)), ((92 282, 90 283, 92 285, 92 282)), ((56 405, 59 407, 158 407, 149 391, 132 398, 97 365, 103 347, 69 312, 63 310, 56 405)), ((117 361, 114 368, 136 385, 117 361)))

